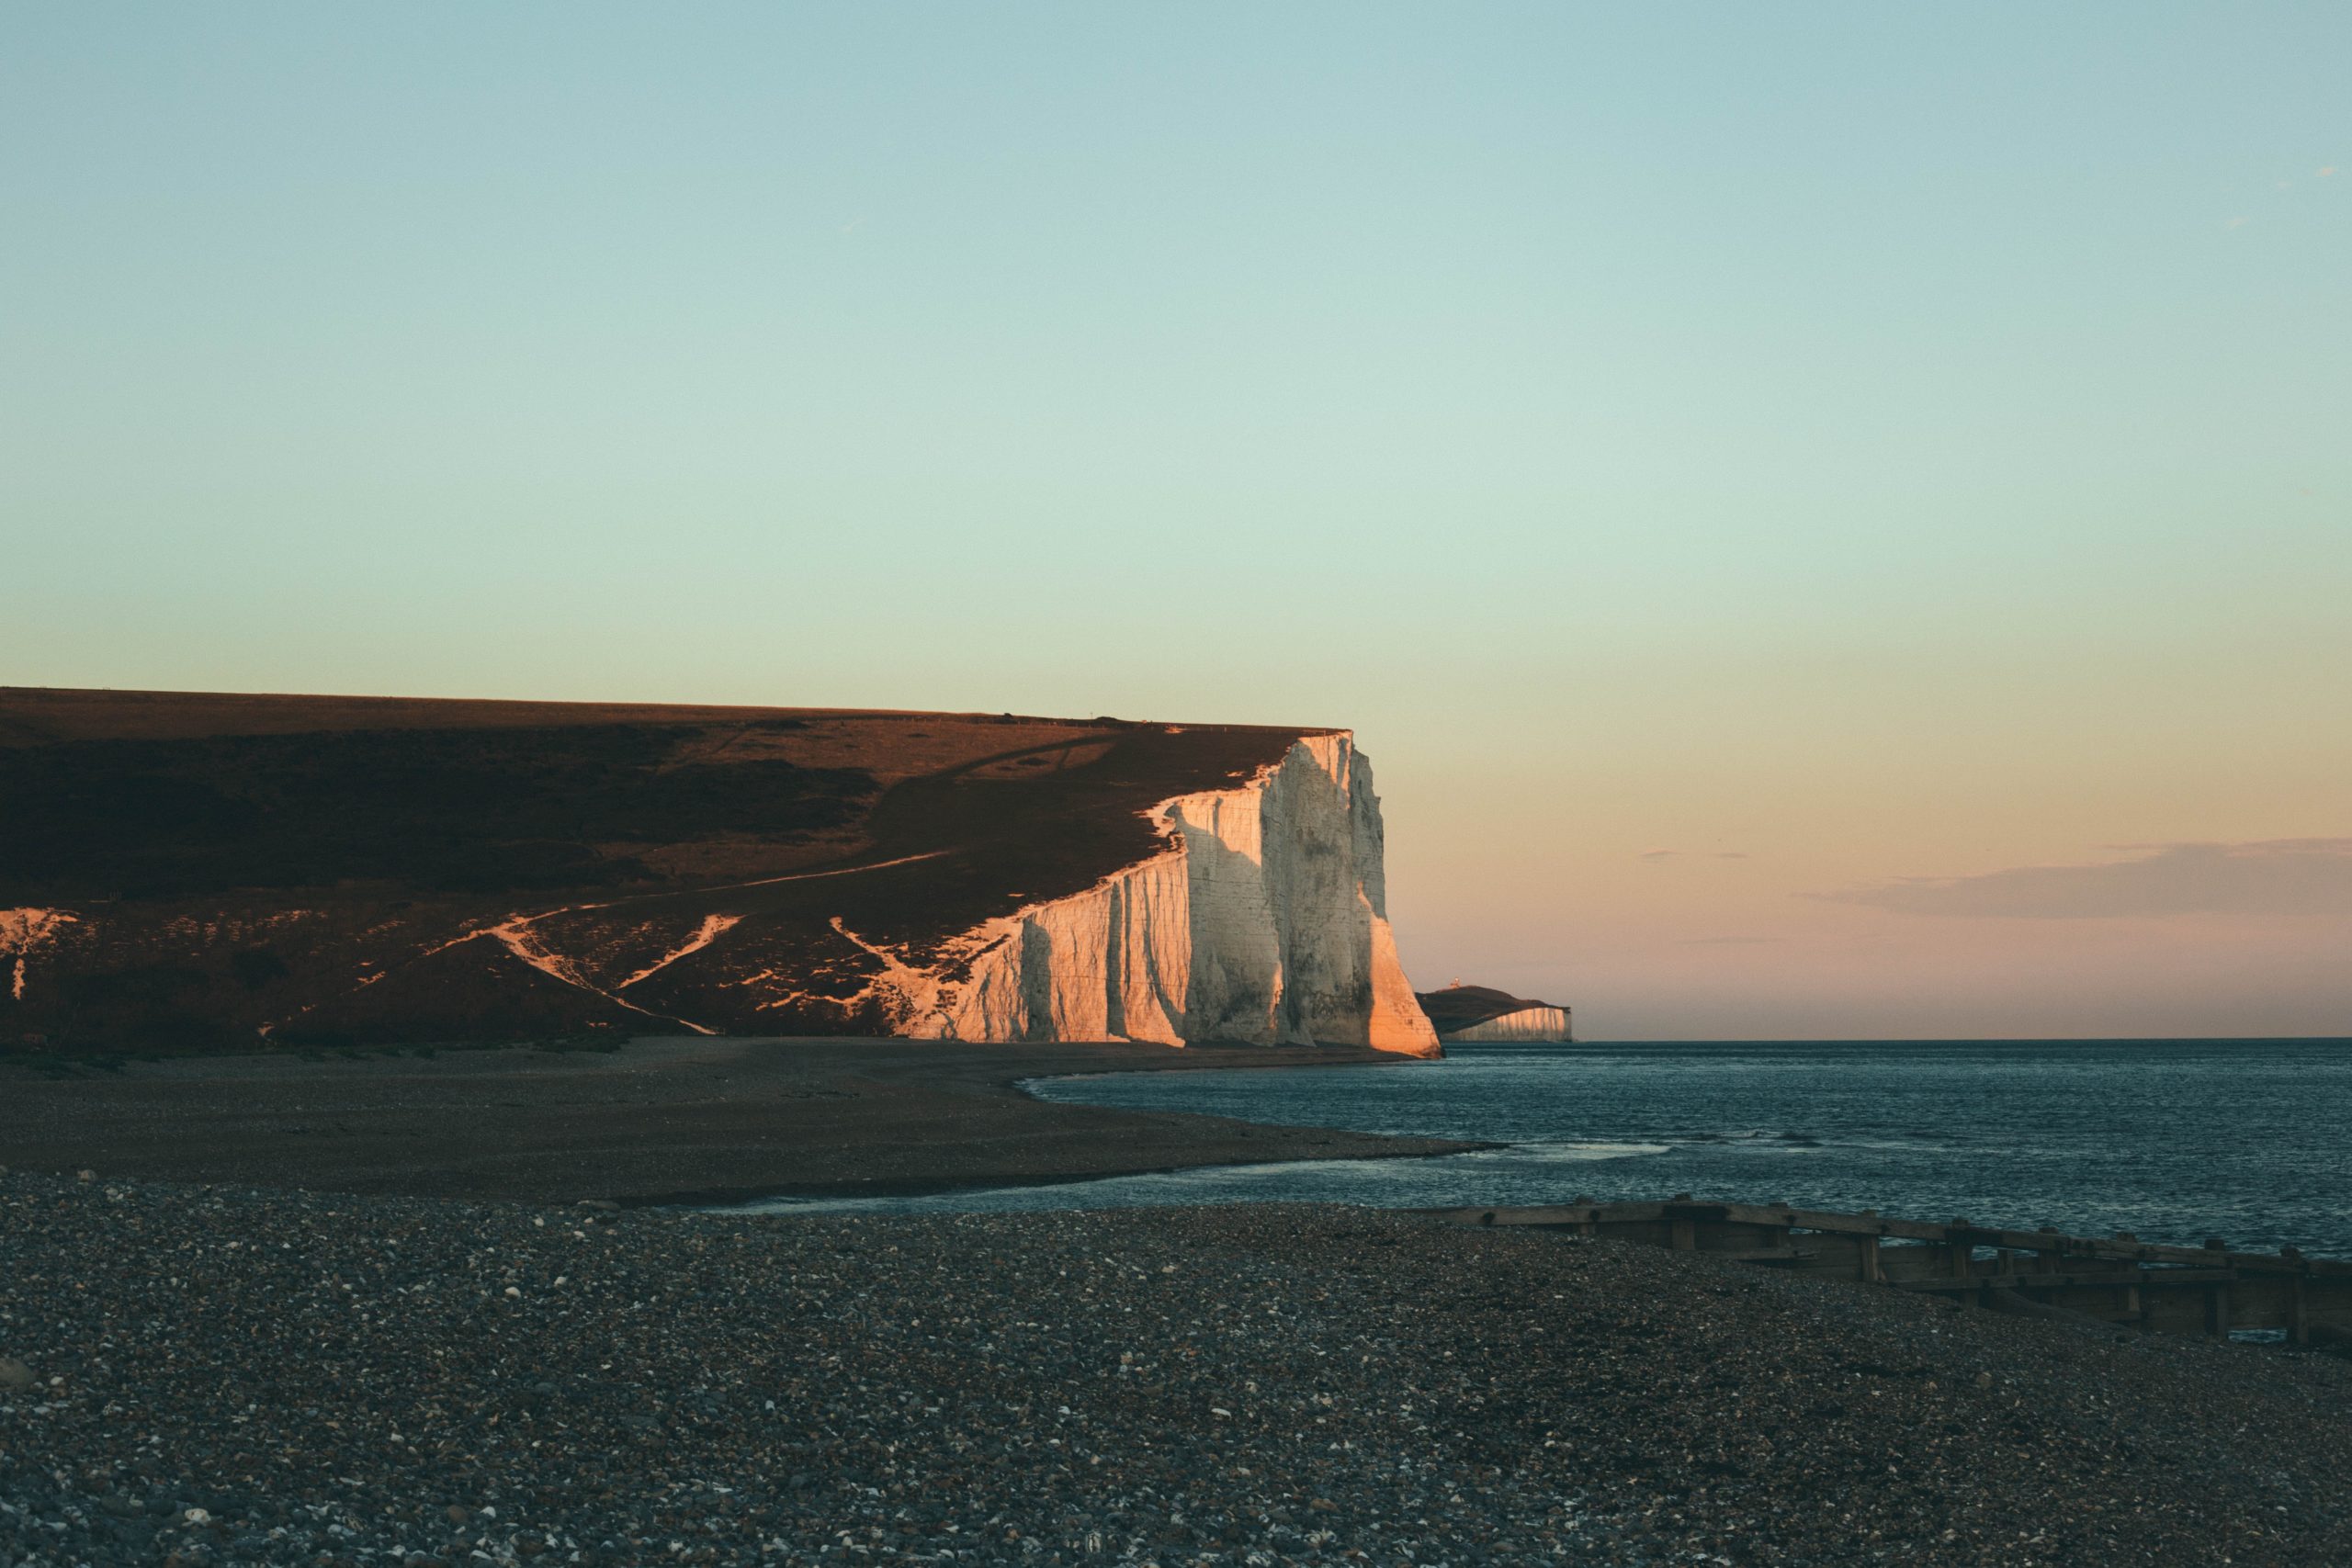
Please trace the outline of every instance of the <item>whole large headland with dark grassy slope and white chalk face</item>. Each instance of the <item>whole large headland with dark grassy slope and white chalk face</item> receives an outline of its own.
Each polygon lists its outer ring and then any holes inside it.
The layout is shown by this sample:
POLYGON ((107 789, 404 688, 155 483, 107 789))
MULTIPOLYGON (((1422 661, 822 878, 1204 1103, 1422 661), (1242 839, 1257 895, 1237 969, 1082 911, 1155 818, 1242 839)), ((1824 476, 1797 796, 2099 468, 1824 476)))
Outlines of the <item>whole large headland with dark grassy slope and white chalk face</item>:
POLYGON ((1345 731, 0 689, 0 1048, 1437 1032, 1345 731))

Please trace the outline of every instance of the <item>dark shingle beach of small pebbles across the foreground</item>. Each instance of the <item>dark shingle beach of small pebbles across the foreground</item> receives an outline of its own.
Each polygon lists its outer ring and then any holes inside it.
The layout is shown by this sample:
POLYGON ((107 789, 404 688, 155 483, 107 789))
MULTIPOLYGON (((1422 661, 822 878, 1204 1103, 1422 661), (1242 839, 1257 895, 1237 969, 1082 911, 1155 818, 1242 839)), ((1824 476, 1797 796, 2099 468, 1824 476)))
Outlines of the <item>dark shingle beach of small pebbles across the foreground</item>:
POLYGON ((19 1173, 0 1359, 0 1566, 2352 1561, 2352 1363, 1376 1211, 19 1173))

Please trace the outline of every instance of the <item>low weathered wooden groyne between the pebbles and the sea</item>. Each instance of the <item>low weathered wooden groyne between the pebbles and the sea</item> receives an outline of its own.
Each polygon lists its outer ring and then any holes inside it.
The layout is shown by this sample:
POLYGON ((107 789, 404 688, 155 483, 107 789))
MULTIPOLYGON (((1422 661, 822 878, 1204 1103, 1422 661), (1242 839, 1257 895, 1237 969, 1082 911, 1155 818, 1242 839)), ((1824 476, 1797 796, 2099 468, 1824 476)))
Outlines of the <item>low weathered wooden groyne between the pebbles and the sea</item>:
POLYGON ((2352 1347, 2352 1262, 2234 1253, 2220 1241, 2152 1246, 2131 1232, 2065 1237, 1950 1220, 1889 1220, 1788 1204, 1576 1199, 1545 1208, 1442 1208, 1461 1225, 1526 1225, 1712 1253, 1792 1274, 1926 1291, 2034 1316, 2096 1319, 2227 1338, 2279 1331, 2291 1345, 2352 1347))

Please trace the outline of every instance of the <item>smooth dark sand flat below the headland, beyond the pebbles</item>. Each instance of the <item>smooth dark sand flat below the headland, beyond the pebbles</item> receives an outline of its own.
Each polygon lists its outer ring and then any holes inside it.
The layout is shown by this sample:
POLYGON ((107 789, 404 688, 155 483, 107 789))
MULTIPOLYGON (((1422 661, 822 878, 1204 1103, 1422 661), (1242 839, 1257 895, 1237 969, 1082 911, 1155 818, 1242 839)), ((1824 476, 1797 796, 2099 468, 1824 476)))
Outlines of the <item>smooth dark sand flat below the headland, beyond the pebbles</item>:
POLYGON ((1414 1063, 1268 1046, 642 1039, 595 1051, 0 1063, 0 1164, 108 1178, 562 1204, 903 1194, 1482 1145, 1047 1105, 1063 1072, 1414 1063))

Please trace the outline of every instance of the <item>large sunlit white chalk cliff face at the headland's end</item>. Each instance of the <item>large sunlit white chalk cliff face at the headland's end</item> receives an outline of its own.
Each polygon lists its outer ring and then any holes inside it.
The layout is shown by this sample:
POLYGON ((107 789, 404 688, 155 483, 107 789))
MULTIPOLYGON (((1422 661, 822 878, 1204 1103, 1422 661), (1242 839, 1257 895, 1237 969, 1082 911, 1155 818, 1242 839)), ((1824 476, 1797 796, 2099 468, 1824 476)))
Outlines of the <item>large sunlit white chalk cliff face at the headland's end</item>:
POLYGON ((1176 795, 1152 820, 1162 853, 988 922, 950 945, 960 961, 880 954, 898 1032, 1439 1053, 1397 964, 1381 799, 1350 733, 1303 736, 1249 783, 1176 795))

